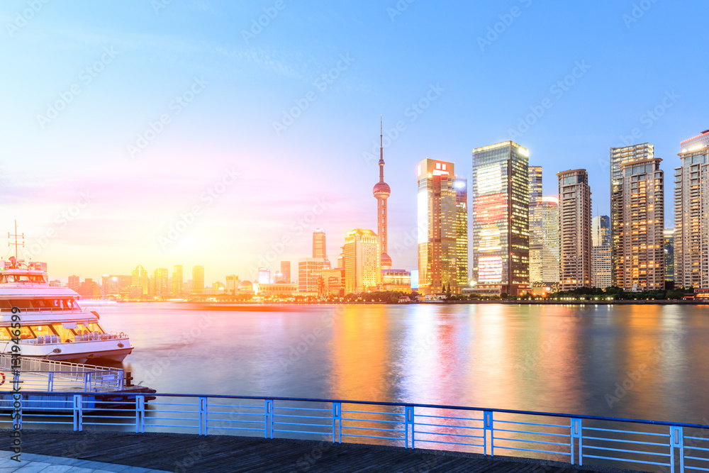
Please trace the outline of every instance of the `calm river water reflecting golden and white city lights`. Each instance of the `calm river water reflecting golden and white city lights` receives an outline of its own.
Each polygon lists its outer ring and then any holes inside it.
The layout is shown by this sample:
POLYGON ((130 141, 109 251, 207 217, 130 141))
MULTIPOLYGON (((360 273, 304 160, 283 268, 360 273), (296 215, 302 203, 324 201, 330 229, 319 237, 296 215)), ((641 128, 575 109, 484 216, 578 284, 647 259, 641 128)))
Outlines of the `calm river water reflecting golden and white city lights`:
POLYGON ((706 306, 96 308, 161 393, 407 401, 708 423, 706 306), (257 310, 255 310, 257 309, 257 310))

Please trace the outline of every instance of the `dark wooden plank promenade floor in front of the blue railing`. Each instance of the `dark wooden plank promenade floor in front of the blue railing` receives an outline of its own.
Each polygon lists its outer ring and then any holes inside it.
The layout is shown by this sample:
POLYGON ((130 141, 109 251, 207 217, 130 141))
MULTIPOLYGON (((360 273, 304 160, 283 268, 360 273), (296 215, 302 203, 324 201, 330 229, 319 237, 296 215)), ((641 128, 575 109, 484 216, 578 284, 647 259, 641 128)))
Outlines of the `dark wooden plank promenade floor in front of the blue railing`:
MULTIPOLYGON (((9 435, 9 430, 4 430, 9 435)), ((9 437, 6 437, 9 438, 9 437)), ((135 434, 66 430, 23 430, 26 454, 81 460, 79 469, 43 467, 4 469, 3 472, 113 471, 125 473, 167 472, 627 472, 571 466, 559 462, 432 450, 406 450, 378 445, 333 444, 308 440, 188 434, 135 434), (112 464, 106 467, 106 464, 112 464), (83 465, 83 466, 82 466, 83 465), (135 467, 125 468, 125 467, 135 467), (109 468, 109 469, 106 469, 109 468), (157 470, 157 471, 156 471, 157 470)), ((9 457, 3 452, 2 458, 9 457)), ((27 455, 33 457, 33 455, 27 455)), ((57 460, 61 462, 62 460, 57 460)), ((43 463, 47 463, 44 460, 43 463)), ((65 463, 69 464, 69 463, 65 463)))

